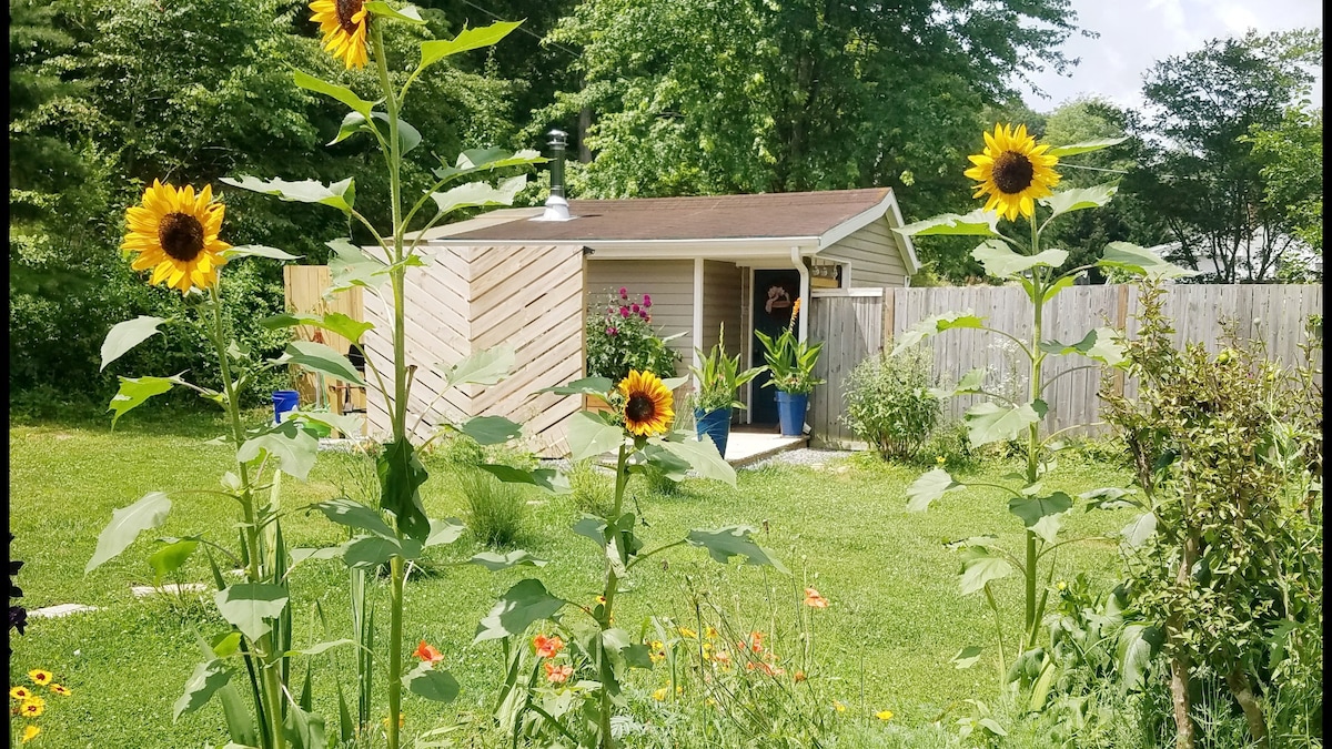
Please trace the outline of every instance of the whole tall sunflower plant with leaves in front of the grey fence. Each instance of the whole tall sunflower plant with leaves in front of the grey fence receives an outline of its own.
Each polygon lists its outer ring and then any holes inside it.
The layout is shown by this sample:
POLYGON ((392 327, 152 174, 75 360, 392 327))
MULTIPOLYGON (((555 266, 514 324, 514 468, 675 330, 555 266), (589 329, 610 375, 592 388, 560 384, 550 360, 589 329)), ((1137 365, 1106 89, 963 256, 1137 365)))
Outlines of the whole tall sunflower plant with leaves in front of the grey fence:
MULTIPOLYGON (((1019 398, 990 392, 984 386, 986 372, 982 368, 964 374, 951 389, 936 390, 940 397, 955 394, 982 394, 991 400, 978 402, 967 409, 964 422, 972 446, 1020 438, 1024 452, 1024 470, 1015 474, 1018 485, 987 484, 1008 496, 1008 510, 1022 521, 1026 529, 1026 549, 1018 557, 1003 549, 994 536, 976 536, 951 541, 948 545, 962 554, 960 589, 963 594, 984 593, 996 626, 999 644, 999 673, 1007 682, 1007 658, 1004 632, 999 606, 994 597, 992 584, 1018 572, 1023 578, 1024 606, 1022 626, 1010 640, 1007 650, 1016 657, 1036 646, 1048 598, 1050 578, 1055 570, 1055 560, 1060 546, 1072 540, 1059 540, 1059 532, 1074 508, 1075 500, 1064 492, 1044 486, 1047 473, 1055 465, 1055 453, 1064 446, 1056 440, 1058 433, 1043 434, 1042 421, 1050 410, 1048 397, 1052 377, 1044 376, 1044 363, 1051 356, 1078 355, 1092 360, 1086 367, 1099 364, 1107 367, 1126 365, 1119 343, 1119 333, 1111 328, 1098 328, 1078 341, 1058 341, 1046 337, 1044 307, 1059 292, 1074 285, 1078 276, 1092 267, 1127 271, 1154 279, 1173 279, 1188 276, 1154 253, 1127 243, 1110 243, 1100 260, 1062 271, 1068 260, 1063 249, 1042 249, 1042 232, 1051 221, 1078 211, 1106 205, 1114 197, 1116 187, 1103 184, 1091 188, 1074 188, 1052 192, 1059 183, 1054 167, 1059 159, 1108 148, 1123 139, 1098 140, 1051 148, 1038 145, 1030 137, 1024 125, 1010 128, 995 125, 995 132, 986 133, 983 153, 972 156, 974 167, 966 176, 978 180, 978 196, 987 196, 986 207, 966 216, 946 213, 910 224, 896 232, 904 236, 956 235, 984 237, 971 256, 980 263, 986 273, 1000 281, 1018 284, 1031 300, 1031 337, 1022 340, 986 324, 986 320, 970 311, 932 315, 903 333, 892 356, 898 356, 919 341, 951 329, 972 328, 1000 336, 1022 353, 1028 365, 1027 389, 1019 398), (1038 211, 1039 205, 1039 211, 1038 211), (1038 220, 1038 213, 1044 216, 1038 220), (1024 221, 1014 221, 1022 216, 1024 221), (1016 227, 1030 229, 1027 239, 1010 236, 999 231, 999 221, 1007 219, 1016 227), (1026 224, 1026 227, 1022 227, 1026 224), (1042 585, 1042 564, 1046 582, 1042 585)), ((1066 372, 1078 371, 1072 368, 1066 372)), ((1058 377, 1058 376, 1056 376, 1058 377)), ((907 489, 907 510, 920 512, 948 492, 966 488, 968 484, 955 480, 944 468, 935 468, 919 477, 907 489)), ((1111 489, 1118 490, 1118 489, 1111 489)), ((1090 506, 1106 506, 1104 496, 1096 492, 1084 496, 1090 506)), ((974 661, 972 661, 974 662, 974 661)), ((1048 657, 1042 670, 1052 668, 1048 657)))

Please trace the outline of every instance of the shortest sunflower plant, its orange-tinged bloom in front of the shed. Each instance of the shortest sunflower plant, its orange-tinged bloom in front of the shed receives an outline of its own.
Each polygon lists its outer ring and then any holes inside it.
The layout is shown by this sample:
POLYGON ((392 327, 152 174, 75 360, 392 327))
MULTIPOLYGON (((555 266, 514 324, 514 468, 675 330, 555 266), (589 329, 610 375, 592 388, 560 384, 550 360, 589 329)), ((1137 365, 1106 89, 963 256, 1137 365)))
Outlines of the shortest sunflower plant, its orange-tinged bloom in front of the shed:
MULTIPOLYGON (((623 682, 627 669, 650 669, 653 661, 641 638, 614 621, 615 600, 623 581, 637 576, 639 565, 657 553, 679 545, 709 550, 726 562, 742 557, 746 564, 785 568, 754 542, 754 528, 731 525, 694 529, 685 538, 645 550, 635 530, 633 512, 625 510, 629 481, 649 469, 663 470, 682 480, 687 470, 702 478, 735 484, 735 470, 722 460, 710 441, 698 441, 690 432, 674 429, 671 389, 679 380, 661 380, 646 372, 633 372, 618 385, 621 413, 581 410, 569 426, 570 460, 582 461, 603 453, 615 456, 615 488, 609 513, 585 514, 574 533, 599 548, 605 585, 594 601, 571 601, 546 589, 539 580, 513 585, 481 620, 476 642, 501 641, 505 682, 497 718, 517 742, 526 738, 539 745, 554 742, 613 749, 615 709, 623 710, 623 682), (565 613, 567 610, 567 613, 565 613), (523 640, 538 622, 546 628, 529 648, 523 640), (549 632, 555 632, 567 653, 543 648, 549 632), (542 654, 546 653, 546 654, 542 654)), ((550 388, 555 394, 583 394, 607 398, 614 384, 603 377, 577 380, 550 388)))

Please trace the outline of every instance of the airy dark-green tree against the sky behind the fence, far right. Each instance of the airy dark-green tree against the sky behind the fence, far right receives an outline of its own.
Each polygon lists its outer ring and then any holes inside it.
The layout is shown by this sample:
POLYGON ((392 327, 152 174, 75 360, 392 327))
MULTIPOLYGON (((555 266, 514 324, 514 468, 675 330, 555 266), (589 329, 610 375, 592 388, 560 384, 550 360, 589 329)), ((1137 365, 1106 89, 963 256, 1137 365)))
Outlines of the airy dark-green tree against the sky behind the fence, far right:
POLYGON ((1295 244, 1268 200, 1265 163, 1245 139, 1272 129, 1308 95, 1323 63, 1321 32, 1212 40, 1147 73, 1147 109, 1134 127, 1144 161, 1124 180, 1166 225, 1169 259, 1219 283, 1272 280, 1295 244))

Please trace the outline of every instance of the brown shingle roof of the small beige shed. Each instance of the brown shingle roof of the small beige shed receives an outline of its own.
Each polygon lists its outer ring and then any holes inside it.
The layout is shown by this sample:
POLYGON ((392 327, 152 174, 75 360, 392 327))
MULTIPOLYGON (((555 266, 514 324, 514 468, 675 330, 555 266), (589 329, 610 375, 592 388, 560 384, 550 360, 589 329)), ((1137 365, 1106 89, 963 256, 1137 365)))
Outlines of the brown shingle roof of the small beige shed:
POLYGON ((486 241, 817 237, 883 203, 890 188, 709 197, 570 200, 569 221, 515 219, 450 235, 486 241))

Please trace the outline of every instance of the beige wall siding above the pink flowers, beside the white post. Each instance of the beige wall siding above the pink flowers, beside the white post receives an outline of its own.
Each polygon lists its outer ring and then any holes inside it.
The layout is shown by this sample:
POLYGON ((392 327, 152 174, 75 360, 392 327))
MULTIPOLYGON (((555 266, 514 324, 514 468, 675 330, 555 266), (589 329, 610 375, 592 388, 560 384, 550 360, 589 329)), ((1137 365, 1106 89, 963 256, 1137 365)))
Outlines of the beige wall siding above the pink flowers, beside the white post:
POLYGON ((586 260, 589 315, 599 315, 606 296, 621 287, 633 299, 653 297, 653 328, 662 337, 683 332, 670 341, 681 356, 677 374, 689 372, 694 353, 694 261, 693 260, 586 260))

